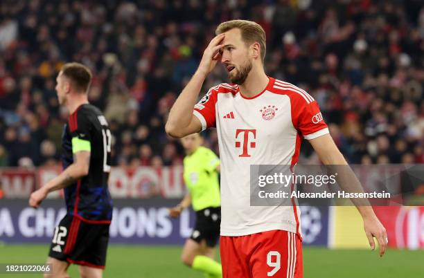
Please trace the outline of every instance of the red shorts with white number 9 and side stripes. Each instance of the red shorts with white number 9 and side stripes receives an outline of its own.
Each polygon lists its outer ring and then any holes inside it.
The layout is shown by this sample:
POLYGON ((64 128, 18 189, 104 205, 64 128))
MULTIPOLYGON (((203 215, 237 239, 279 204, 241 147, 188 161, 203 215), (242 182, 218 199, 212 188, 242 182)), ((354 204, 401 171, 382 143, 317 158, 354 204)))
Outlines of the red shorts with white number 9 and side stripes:
POLYGON ((272 230, 220 239, 223 278, 302 278, 302 243, 292 232, 272 230))

